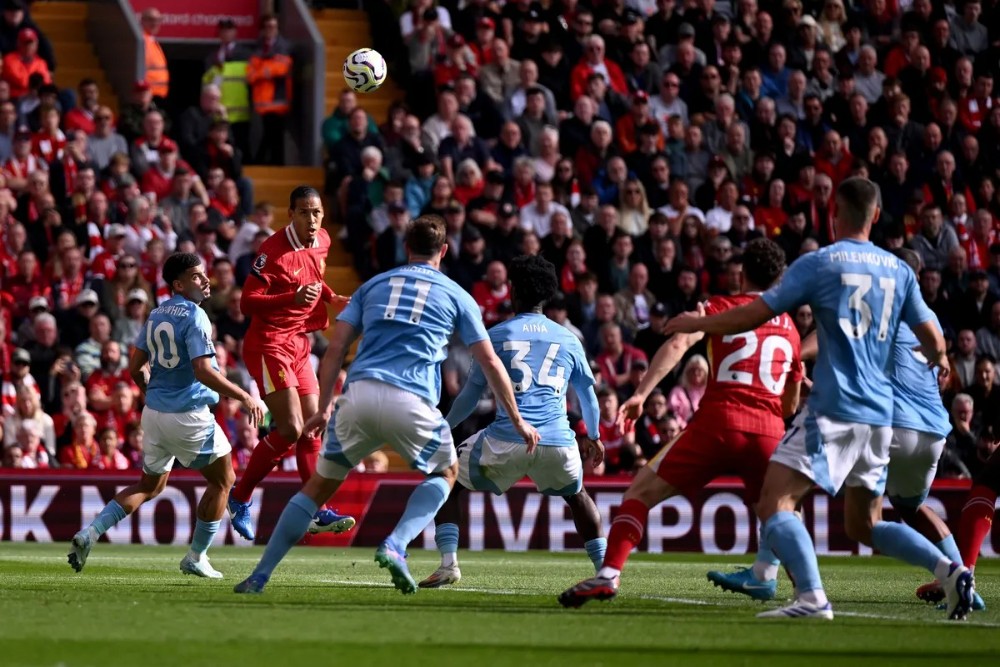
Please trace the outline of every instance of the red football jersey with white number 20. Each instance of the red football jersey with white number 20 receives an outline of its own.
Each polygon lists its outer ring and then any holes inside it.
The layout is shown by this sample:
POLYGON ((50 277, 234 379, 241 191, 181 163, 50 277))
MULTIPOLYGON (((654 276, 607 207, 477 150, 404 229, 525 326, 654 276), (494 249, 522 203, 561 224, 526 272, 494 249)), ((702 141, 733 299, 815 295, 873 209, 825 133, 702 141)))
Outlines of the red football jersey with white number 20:
MULTIPOLYGON (((713 297, 705 312, 713 315, 756 298, 713 297)), ((785 432, 781 395, 786 380, 802 380, 800 353, 799 333, 787 314, 746 333, 709 336, 711 377, 691 424, 780 438, 785 432)))

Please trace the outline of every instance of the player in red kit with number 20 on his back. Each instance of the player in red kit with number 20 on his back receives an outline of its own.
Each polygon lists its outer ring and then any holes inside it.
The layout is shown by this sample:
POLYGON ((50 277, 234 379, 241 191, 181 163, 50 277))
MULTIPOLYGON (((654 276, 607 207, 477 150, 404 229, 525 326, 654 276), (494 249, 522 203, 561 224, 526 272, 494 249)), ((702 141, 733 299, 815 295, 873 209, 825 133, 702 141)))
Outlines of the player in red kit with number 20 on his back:
MULTIPOLYGON (((784 268, 785 255, 776 243, 751 241, 743 254, 743 293, 713 297, 699 306, 699 312, 718 313, 753 301, 784 268)), ((675 335, 663 344, 635 395, 619 410, 621 421, 639 418, 649 392, 702 335, 675 335)), ((636 475, 611 524, 604 564, 597 576, 559 596, 564 607, 615 597, 625 561, 642 540, 650 508, 667 498, 690 497, 715 477, 735 475, 746 486, 747 505, 757 502, 768 461, 785 432, 784 417, 798 407, 799 334, 783 314, 754 331, 711 336, 708 349, 712 376, 698 412, 687 429, 636 475)))

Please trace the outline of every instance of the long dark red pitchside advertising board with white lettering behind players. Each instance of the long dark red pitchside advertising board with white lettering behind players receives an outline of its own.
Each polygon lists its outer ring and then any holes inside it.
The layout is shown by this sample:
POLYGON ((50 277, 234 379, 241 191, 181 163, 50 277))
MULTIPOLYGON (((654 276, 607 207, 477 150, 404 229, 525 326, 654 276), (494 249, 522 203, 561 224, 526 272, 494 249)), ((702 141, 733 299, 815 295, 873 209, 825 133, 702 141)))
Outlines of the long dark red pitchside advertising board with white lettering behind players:
MULTIPOLYGON (((119 489, 134 481, 133 473, 0 470, 0 537, 14 542, 68 542, 119 489)), ((356 517, 357 527, 347 535, 311 538, 311 543, 378 545, 392 530, 419 481, 414 475, 352 475, 337 492, 334 504, 356 517)), ((300 486, 297 475, 274 474, 256 490, 251 512, 258 544, 267 542, 285 503, 300 486)), ((628 479, 593 479, 586 486, 607 527, 628 479)), ((187 544, 204 488, 204 480, 196 473, 174 473, 164 492, 109 531, 108 539, 119 544, 187 544)), ((696 499, 672 498, 662 503, 650 512, 639 549, 650 553, 752 553, 757 548, 757 521, 743 504, 742 493, 738 482, 720 481, 696 499)), ((928 503, 954 530, 967 493, 967 483, 936 484, 928 503)), ((469 493, 465 502, 462 548, 564 551, 583 546, 563 499, 543 496, 528 482, 504 496, 469 493)), ((886 516, 893 516, 888 502, 886 516)), ((842 499, 815 494, 806 500, 804 518, 820 555, 871 553, 845 536, 842 499)), ((226 518, 216 543, 246 545, 233 537, 226 518)), ((434 548, 433 526, 413 548, 421 546, 434 548)), ((1000 539, 992 544, 987 540, 984 555, 994 556, 997 547, 1000 539)))

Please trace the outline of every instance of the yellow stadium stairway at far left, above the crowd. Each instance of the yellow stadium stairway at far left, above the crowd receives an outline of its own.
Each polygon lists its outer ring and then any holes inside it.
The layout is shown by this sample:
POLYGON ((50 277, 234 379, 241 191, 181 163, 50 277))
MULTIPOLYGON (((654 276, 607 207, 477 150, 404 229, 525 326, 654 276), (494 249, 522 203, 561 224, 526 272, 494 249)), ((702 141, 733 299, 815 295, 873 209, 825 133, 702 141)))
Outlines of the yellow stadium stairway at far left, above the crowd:
POLYGON ((117 114, 118 97, 87 39, 87 12, 86 2, 36 2, 31 6, 31 18, 52 42, 56 53, 56 84, 76 90, 81 79, 93 79, 100 87, 101 103, 117 114))

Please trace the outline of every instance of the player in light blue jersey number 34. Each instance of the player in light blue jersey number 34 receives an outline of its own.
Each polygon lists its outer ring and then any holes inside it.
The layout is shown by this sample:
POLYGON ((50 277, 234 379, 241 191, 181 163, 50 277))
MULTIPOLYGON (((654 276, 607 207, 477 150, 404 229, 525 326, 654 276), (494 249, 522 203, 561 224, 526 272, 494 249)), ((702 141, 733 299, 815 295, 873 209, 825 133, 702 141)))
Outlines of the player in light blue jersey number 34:
MULTIPOLYGON (((458 567, 458 522, 461 490, 491 491, 500 495, 530 477, 539 491, 562 496, 573 513, 587 555, 601 566, 607 540, 601 515, 583 488, 580 449, 594 465, 604 460, 600 441, 600 411, 594 376, 580 340, 542 315, 542 307, 559 291, 555 267, 537 256, 514 259, 510 267, 511 300, 515 317, 490 329, 490 342, 504 362, 521 415, 541 434, 539 447, 529 453, 502 407, 492 424, 458 447, 458 485, 435 517, 435 542, 441 566, 420 582, 421 588, 439 588, 462 578, 458 567), (572 386, 580 400, 587 437, 580 446, 566 415, 566 389, 572 386)), ((474 366, 465 387, 448 412, 455 428, 475 410, 486 375, 474 366)))

